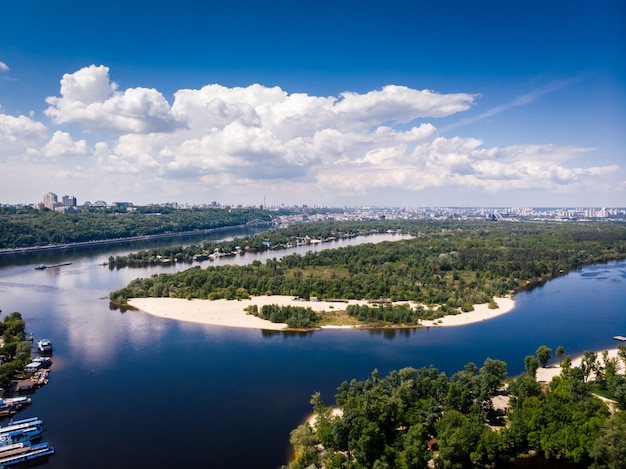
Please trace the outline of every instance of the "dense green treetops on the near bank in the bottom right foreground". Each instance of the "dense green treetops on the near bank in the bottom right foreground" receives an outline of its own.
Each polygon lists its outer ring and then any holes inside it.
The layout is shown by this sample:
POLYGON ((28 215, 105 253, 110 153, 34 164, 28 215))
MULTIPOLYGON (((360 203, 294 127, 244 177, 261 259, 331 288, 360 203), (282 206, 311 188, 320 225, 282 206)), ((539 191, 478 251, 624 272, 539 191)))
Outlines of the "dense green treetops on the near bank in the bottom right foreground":
POLYGON ((617 369, 626 366, 626 347, 604 362, 586 352, 582 367, 566 357, 560 376, 539 383, 536 367, 546 350, 526 357, 526 372, 512 379, 505 362, 487 358, 450 377, 432 366, 386 377, 374 370, 364 381, 341 383, 332 406, 316 393, 314 418, 291 432, 293 459, 284 468, 499 467, 530 455, 623 468, 626 377, 617 369), (612 408, 594 395, 598 382, 612 388, 612 408))

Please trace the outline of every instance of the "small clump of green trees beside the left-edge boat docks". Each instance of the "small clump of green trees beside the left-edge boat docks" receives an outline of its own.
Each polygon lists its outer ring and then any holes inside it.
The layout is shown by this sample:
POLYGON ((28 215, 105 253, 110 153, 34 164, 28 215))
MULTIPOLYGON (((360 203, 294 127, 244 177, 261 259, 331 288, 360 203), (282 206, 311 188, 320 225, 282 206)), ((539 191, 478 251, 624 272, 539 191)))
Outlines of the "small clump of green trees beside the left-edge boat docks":
POLYGON ((30 359, 30 343, 25 340, 24 329, 25 323, 18 312, 6 315, 0 322, 0 386, 6 386, 15 372, 23 370, 30 359))

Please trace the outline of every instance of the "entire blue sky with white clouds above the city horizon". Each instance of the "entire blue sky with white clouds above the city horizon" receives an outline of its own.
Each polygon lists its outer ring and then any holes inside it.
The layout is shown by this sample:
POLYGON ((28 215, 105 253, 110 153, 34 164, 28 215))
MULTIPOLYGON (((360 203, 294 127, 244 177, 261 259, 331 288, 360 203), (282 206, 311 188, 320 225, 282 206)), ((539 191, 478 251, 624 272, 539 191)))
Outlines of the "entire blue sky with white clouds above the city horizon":
POLYGON ((0 203, 626 205, 621 0, 0 18, 0 203))

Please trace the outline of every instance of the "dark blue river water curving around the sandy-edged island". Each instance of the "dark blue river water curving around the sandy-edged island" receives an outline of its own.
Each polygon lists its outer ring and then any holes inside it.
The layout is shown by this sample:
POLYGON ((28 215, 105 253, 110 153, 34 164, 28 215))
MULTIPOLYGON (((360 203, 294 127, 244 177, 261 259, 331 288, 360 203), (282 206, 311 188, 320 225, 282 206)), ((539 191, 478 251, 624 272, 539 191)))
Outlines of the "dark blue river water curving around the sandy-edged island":
POLYGON ((46 271, 33 267, 51 258, 0 268, 0 309, 20 311, 28 332, 55 345, 50 383, 18 414, 44 420, 57 450, 46 467, 276 468, 311 394, 332 403, 342 381, 374 368, 454 373, 492 357, 516 374, 539 345, 573 356, 626 335, 626 262, 520 293, 511 313, 473 325, 284 334, 109 310, 110 290, 164 271, 99 265, 121 251, 56 255, 72 265, 46 271))

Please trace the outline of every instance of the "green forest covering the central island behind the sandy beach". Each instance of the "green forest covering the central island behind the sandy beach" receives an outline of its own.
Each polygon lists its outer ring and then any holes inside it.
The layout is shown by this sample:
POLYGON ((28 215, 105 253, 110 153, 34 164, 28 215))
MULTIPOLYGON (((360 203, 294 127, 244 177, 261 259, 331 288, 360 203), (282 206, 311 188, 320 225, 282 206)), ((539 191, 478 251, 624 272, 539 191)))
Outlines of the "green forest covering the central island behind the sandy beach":
MULTIPOLYGON (((311 230, 311 225, 315 224, 296 225, 292 237, 298 229, 311 230)), ((342 230, 336 223, 319 225, 317 229, 329 233, 342 230)), ((397 223, 388 226, 398 229, 397 223)), ((435 308, 438 314, 456 314, 471 311, 476 304, 495 307, 494 297, 586 264, 626 257, 626 226, 621 224, 413 221, 402 230, 414 236, 244 266, 196 266, 133 280, 109 298, 112 306, 133 297, 238 299, 278 294, 320 300, 386 299, 423 304, 424 314, 432 317, 435 308)), ((257 235, 261 240, 266 236, 273 233, 257 235)), ((368 317, 370 324, 389 323, 384 314, 378 318, 377 311, 372 313, 353 311, 353 316, 368 317)))

